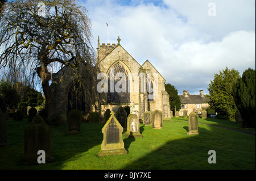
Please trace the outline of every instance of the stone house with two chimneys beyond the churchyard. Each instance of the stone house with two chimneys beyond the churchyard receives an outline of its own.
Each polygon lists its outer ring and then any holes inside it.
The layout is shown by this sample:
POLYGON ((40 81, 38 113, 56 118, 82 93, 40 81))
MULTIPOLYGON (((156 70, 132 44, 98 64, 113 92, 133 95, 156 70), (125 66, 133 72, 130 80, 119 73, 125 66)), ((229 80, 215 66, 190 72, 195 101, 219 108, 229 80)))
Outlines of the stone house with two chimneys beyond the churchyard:
POLYGON ((190 95, 188 90, 183 90, 183 95, 179 95, 181 102, 181 109, 179 111, 179 116, 183 116, 183 111, 188 111, 187 115, 191 112, 197 112, 199 115, 203 109, 209 107, 208 101, 210 99, 207 96, 204 96, 204 91, 200 90, 199 95, 190 95))

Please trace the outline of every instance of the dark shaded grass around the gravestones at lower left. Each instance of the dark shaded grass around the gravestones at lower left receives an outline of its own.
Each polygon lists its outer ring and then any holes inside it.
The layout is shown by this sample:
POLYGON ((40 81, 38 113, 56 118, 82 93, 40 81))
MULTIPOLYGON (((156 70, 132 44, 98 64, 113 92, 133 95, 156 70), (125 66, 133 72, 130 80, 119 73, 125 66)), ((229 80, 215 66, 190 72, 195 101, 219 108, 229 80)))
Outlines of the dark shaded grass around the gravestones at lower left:
POLYGON ((102 124, 81 123, 80 134, 66 134, 67 124, 51 128, 51 148, 54 162, 47 164, 23 165, 24 160, 24 129, 30 125, 23 121, 8 120, 7 135, 10 146, 0 148, 0 169, 62 169, 65 162, 75 160, 81 153, 103 140, 102 124))

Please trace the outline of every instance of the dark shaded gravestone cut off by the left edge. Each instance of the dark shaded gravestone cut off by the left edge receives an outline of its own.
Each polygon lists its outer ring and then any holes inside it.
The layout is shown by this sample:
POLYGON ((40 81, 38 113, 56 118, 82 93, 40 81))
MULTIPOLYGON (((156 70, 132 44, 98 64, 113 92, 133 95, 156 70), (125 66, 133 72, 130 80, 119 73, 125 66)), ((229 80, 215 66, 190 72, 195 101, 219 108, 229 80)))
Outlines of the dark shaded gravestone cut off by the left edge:
POLYGON ((9 146, 8 136, 6 134, 7 119, 9 119, 9 114, 0 111, 0 146, 9 146))

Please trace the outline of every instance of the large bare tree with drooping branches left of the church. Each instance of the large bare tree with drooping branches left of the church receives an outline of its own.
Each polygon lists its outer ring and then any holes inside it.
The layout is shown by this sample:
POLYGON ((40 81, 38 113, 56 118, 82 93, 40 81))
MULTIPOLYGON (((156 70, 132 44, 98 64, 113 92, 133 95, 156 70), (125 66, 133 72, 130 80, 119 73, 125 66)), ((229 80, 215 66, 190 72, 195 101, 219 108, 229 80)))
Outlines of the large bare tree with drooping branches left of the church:
MULTIPOLYGON (((92 66, 91 22, 73 0, 18 0, 4 5, 0 19, 0 69, 34 80, 38 75, 51 115, 49 67, 92 66)), ((79 78, 79 75, 76 75, 79 78)))

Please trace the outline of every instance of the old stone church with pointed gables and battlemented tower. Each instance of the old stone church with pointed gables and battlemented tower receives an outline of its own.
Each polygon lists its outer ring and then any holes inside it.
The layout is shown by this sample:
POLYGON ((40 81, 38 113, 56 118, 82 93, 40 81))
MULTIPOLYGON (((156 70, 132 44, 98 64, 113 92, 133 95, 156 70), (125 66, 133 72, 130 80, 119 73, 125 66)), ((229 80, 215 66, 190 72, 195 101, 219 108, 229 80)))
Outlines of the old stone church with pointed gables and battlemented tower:
POLYGON ((97 77, 90 74, 94 67, 79 69, 81 83, 67 66, 52 74, 52 104, 57 115, 76 108, 85 113, 99 112, 102 118, 107 109, 116 112, 120 106, 134 104, 141 120, 145 111, 154 110, 162 111, 163 117, 171 117, 166 80, 150 61, 140 65, 120 41, 118 37, 117 44, 100 44, 98 37, 97 77))

